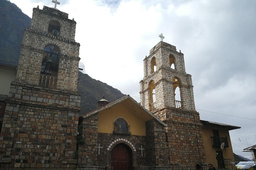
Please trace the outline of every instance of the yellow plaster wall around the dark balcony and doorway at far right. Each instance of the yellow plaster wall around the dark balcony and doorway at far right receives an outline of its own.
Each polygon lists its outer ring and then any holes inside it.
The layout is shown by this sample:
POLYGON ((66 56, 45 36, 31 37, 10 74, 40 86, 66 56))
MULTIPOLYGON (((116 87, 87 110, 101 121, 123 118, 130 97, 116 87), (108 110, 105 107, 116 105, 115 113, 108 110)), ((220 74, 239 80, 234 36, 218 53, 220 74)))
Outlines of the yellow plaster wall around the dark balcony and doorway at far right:
MULTIPOLYGON (((218 167, 218 161, 216 159, 216 151, 222 151, 224 159, 231 159, 232 162, 235 161, 233 155, 233 149, 230 141, 229 130, 228 128, 223 127, 213 127, 211 125, 203 125, 202 128, 204 148, 205 148, 205 156, 206 162, 211 163, 215 168, 218 167), (225 147, 223 150, 220 147, 213 147, 213 129, 217 129, 219 131, 220 137, 227 137, 229 147, 225 147)), ((233 169, 236 169, 235 164, 232 165, 233 169)), ((225 168, 232 169, 231 166, 227 166, 225 168)))

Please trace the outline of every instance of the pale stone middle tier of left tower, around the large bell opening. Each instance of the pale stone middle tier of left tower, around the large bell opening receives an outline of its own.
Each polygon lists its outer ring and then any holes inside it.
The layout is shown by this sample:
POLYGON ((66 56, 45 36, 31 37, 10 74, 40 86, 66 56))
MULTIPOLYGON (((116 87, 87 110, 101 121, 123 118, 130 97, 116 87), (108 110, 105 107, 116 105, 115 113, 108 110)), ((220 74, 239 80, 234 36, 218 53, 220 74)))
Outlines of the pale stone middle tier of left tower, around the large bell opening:
POLYGON ((80 44, 31 29, 24 31, 16 79, 33 85, 39 84, 44 48, 48 44, 60 48, 57 89, 77 91, 80 44))

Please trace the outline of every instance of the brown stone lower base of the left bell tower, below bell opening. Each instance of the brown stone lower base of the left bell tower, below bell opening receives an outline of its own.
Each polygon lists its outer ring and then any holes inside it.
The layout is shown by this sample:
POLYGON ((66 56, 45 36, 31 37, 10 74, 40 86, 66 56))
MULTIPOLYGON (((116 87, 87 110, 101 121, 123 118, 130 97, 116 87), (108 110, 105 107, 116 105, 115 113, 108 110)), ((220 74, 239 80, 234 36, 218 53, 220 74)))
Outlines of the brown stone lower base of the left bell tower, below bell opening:
POLYGON ((0 134, 1 169, 73 170, 78 98, 75 93, 12 83, 0 134))

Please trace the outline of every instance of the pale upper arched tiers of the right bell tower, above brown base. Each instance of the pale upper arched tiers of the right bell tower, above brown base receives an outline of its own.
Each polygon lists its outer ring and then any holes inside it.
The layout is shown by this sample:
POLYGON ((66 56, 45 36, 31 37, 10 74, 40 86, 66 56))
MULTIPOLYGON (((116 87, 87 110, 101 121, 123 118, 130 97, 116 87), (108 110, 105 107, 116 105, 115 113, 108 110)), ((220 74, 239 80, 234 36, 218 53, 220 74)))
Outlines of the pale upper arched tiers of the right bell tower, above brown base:
POLYGON ((161 41, 145 57, 140 98, 142 106, 151 112, 165 107, 195 111, 191 75, 186 73, 184 54, 175 46, 161 41), (175 100, 177 87, 181 101, 175 100))

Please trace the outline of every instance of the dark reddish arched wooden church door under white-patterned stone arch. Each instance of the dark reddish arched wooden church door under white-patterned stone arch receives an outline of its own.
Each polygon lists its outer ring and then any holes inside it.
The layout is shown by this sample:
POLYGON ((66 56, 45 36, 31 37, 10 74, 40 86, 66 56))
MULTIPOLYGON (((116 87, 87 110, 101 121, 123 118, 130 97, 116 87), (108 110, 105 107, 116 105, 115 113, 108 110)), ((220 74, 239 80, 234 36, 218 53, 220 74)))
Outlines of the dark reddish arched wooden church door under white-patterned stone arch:
POLYGON ((130 170, 132 167, 132 150, 129 146, 119 143, 111 150, 111 166, 113 170, 130 170))

